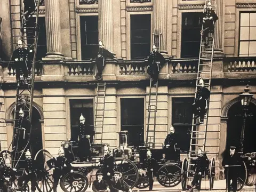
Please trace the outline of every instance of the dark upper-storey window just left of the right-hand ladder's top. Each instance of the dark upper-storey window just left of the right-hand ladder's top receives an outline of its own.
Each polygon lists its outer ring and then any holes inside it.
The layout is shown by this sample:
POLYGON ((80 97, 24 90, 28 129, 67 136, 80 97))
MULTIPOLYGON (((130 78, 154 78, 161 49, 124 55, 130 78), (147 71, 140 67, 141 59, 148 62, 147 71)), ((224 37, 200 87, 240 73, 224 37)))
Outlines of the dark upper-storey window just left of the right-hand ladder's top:
POLYGON ((182 13, 181 58, 198 58, 202 16, 202 12, 182 13))

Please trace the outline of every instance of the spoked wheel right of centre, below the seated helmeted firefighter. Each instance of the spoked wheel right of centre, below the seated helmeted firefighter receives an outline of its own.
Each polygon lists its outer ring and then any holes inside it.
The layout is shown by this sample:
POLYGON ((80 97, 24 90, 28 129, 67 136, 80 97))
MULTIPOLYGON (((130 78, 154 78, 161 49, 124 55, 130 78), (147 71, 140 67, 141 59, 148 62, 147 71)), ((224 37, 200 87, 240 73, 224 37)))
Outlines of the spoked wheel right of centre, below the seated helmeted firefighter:
POLYGON ((175 187, 181 182, 181 169, 174 164, 166 164, 160 167, 157 181, 164 187, 175 187))

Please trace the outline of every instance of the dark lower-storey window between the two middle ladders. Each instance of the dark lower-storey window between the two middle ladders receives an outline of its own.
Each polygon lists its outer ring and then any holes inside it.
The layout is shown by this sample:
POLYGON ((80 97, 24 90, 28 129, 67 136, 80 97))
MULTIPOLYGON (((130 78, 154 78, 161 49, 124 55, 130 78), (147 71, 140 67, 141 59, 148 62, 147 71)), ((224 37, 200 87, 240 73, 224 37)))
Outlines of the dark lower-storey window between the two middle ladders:
POLYGON ((129 145, 141 146, 144 142, 144 99, 121 99, 121 130, 129 131, 129 145))

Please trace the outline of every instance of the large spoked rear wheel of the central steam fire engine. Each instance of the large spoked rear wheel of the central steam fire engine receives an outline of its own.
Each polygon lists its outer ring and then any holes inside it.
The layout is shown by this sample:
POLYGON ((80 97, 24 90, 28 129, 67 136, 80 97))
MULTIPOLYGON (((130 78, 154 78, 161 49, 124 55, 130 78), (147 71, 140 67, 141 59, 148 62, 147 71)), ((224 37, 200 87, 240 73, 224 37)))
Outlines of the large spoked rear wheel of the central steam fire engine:
POLYGON ((114 170, 121 173, 121 178, 132 189, 139 180, 137 166, 130 159, 123 157, 114 158, 114 170))

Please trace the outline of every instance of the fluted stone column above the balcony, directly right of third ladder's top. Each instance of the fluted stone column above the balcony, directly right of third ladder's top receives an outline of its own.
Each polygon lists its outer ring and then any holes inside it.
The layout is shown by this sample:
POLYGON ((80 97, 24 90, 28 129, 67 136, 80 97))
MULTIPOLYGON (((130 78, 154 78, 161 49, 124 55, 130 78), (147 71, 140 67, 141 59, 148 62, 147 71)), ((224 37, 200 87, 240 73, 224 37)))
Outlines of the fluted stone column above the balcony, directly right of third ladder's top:
POLYGON ((159 29, 162 30, 162 41, 159 50, 161 53, 167 54, 167 1, 155 0, 153 5, 154 13, 154 28, 159 33, 159 29))

